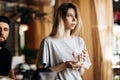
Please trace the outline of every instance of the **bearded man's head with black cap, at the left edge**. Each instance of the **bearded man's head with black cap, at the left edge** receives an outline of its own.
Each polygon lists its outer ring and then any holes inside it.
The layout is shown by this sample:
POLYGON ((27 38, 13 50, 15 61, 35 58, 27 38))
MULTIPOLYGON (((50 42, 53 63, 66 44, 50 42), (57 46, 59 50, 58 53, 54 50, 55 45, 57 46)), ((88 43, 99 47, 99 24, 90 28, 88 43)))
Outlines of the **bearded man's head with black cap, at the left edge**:
POLYGON ((5 16, 0 16, 0 47, 6 44, 9 35, 10 20, 5 16))

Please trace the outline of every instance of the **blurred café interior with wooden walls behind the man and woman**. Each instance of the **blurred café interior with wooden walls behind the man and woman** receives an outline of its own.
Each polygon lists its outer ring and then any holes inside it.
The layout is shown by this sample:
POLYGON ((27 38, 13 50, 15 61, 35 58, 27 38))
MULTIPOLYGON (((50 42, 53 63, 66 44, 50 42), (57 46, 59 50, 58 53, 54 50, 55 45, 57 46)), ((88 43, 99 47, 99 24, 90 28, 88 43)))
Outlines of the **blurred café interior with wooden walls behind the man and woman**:
POLYGON ((120 80, 119 0, 0 0, 0 15, 12 22, 7 48, 18 80, 36 70, 41 40, 49 35, 54 11, 62 2, 78 5, 92 66, 83 80, 120 80))

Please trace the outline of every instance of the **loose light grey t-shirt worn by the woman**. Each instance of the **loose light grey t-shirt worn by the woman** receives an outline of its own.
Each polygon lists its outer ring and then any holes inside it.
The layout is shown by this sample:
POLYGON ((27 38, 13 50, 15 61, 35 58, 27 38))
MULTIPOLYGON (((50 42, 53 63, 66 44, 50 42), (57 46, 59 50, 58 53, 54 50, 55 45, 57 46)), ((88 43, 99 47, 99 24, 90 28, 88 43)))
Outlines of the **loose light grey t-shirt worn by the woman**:
MULTIPOLYGON (((57 66, 63 62, 74 60, 73 52, 80 54, 81 50, 85 49, 84 40, 80 37, 74 36, 71 39, 46 37, 40 46, 40 57, 38 64, 45 64, 45 67, 57 66)), ((89 55, 84 63, 85 68, 91 65, 89 55)), ((59 80, 82 80, 80 72, 75 69, 66 68, 57 73, 59 80)))

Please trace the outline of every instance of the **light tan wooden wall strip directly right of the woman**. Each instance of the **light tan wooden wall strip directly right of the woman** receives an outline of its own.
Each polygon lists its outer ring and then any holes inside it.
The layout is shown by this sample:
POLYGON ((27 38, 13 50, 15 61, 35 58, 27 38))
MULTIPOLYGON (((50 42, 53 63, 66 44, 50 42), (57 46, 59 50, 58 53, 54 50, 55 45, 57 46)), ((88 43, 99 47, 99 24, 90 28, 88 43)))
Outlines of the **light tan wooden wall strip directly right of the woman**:
POLYGON ((93 54, 93 41, 92 41, 92 25, 91 25, 91 0, 80 0, 79 8, 84 25, 83 38, 85 39, 87 49, 89 52, 91 67, 87 70, 83 76, 83 80, 94 80, 94 54, 93 54))

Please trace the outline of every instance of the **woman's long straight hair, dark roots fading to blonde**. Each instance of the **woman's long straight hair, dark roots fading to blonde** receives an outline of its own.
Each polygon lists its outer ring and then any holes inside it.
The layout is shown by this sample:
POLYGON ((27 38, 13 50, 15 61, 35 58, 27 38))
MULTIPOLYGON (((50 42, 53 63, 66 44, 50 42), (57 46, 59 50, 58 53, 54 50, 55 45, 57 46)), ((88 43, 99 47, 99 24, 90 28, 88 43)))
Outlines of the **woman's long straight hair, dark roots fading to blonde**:
POLYGON ((80 28, 83 26, 78 7, 73 3, 62 3, 55 12, 53 20, 53 28, 50 36, 52 37, 64 37, 65 36, 65 25, 64 20, 69 8, 73 8, 76 13, 77 25, 74 30, 71 30, 71 35, 79 35, 80 28))

